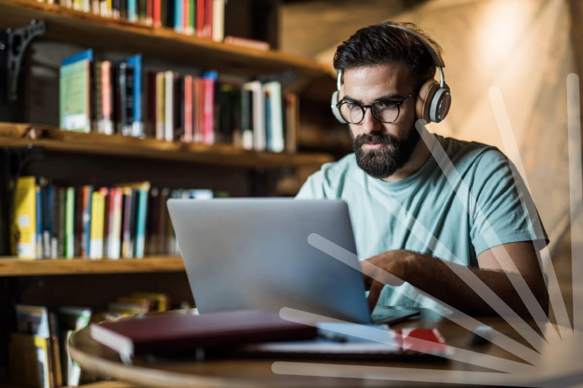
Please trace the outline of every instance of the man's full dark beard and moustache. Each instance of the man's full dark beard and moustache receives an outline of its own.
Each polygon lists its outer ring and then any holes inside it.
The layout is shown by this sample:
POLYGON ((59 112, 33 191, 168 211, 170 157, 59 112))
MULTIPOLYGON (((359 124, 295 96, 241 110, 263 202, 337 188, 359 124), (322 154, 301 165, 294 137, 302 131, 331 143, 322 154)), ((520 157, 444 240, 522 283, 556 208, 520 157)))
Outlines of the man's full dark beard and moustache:
POLYGON ((403 168, 421 137, 415 127, 412 127, 402 139, 379 133, 361 134, 354 137, 352 131, 350 131, 350 136, 352 136, 357 165, 368 175, 379 179, 387 178, 396 170, 403 168), (366 143, 385 145, 379 149, 365 150, 363 145, 366 143))

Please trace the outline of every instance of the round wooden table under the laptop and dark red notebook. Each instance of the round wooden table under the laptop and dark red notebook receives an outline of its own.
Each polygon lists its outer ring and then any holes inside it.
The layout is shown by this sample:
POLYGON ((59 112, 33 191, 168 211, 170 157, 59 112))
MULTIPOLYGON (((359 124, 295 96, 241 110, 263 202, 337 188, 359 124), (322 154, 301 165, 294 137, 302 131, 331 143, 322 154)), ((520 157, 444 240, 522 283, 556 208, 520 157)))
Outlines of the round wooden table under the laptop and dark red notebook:
MULTIPOLYGON (((165 313, 168 314, 168 313, 165 313)), ((192 314, 183 310, 170 314, 192 314)), ((473 325, 476 322, 469 317, 457 317, 456 322, 462 325, 473 325), (464 321, 465 320, 465 321, 464 321)), ((501 334, 529 346, 527 341, 499 317, 480 318, 485 325, 498 330, 501 334)), ((524 322, 522 322, 524 325, 524 322)), ((535 328, 533 322, 529 322, 535 328)), ((524 361, 494 344, 481 346, 470 345, 470 332, 462 326, 442 318, 429 310, 422 310, 419 319, 400 323, 393 328, 437 328, 450 346, 459 348, 458 360, 445 362, 403 362, 403 361, 351 361, 326 359, 212 359, 208 361, 156 362, 134 361, 132 365, 123 364, 114 351, 101 346, 90 338, 89 329, 76 332, 69 342, 71 357, 79 362, 83 369, 96 372, 103 376, 123 380, 140 386, 151 387, 377 387, 377 386, 444 386, 445 383, 472 383, 476 386, 505 382, 508 376, 493 369, 469 364, 465 361, 464 350, 478 352, 486 358, 479 365, 487 365, 489 356, 508 359, 505 363, 510 372, 526 365, 524 361), (522 364, 514 364, 522 362, 522 364), (508 366, 510 364, 510 366, 508 366), (514 368, 512 365, 518 365, 514 368), (513 369, 514 368, 514 369, 513 369), (291 371, 291 372, 290 372, 291 371), (477 373, 468 373, 477 372, 477 373), (287 373, 297 373, 287 374, 287 373), (420 381, 413 381, 419 379, 420 381)), ((467 327, 467 326, 466 326, 467 327)), ((547 328, 553 328, 547 323, 547 328)), ((535 329, 538 330, 538 329, 535 329)), ((511 341, 508 341, 511 342, 511 341)), ((531 341, 532 343, 532 341, 531 341)), ((540 339, 535 347, 546 343, 540 339)), ((545 352, 543 352, 545 353, 545 352)), ((546 352, 548 353, 548 351, 546 352)), ((474 357, 476 354, 468 356, 474 357)), ((483 357, 483 356, 482 356, 483 357)), ((554 357, 554 356, 553 356, 554 357)), ((532 361, 531 361, 532 362, 532 361)), ((546 361, 547 362, 547 361, 546 361)), ((549 362, 547 362, 549 364, 549 362)), ((549 364, 550 365, 550 364, 549 364)), ((532 366, 528 366, 533 368, 532 366)), ((552 366, 550 366, 552 367, 552 366)), ((522 373, 514 376, 512 382, 520 382, 535 378, 538 372, 522 373), (533 377, 535 376, 535 377, 533 377)), ((508 371, 507 371, 508 372, 508 371)), ((517 384, 518 385, 518 384, 517 384)), ((458 386, 458 385, 456 385, 458 386)))

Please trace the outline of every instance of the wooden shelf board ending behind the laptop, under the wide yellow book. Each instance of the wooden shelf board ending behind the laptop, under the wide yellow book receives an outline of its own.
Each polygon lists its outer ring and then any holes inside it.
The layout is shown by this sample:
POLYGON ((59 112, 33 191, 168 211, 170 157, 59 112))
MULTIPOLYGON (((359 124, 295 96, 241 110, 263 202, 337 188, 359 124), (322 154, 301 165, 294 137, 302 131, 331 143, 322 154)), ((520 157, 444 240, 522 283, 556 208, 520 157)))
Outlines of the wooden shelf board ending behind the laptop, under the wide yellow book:
POLYGON ((0 258, 0 277, 181 271, 184 271, 184 264, 178 256, 117 260, 0 258))

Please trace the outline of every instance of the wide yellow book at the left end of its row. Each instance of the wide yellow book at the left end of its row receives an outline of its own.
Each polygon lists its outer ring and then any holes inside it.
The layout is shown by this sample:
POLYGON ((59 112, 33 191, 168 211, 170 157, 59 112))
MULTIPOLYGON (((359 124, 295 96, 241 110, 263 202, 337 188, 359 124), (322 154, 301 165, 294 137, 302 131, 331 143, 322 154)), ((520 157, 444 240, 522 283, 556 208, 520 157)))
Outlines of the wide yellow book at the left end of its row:
POLYGON ((14 195, 12 253, 20 259, 36 258, 36 179, 20 177, 14 195))

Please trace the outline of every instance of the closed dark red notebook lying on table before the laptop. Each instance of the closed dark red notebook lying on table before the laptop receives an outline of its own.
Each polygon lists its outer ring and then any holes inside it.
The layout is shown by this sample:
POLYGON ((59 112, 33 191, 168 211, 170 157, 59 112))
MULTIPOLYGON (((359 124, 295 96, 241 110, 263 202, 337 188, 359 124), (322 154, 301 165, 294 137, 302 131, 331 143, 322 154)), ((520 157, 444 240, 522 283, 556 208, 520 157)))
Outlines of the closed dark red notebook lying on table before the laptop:
POLYGON ((312 339, 317 329, 260 310, 161 315, 93 323, 91 337, 120 353, 179 351, 268 341, 312 339))

